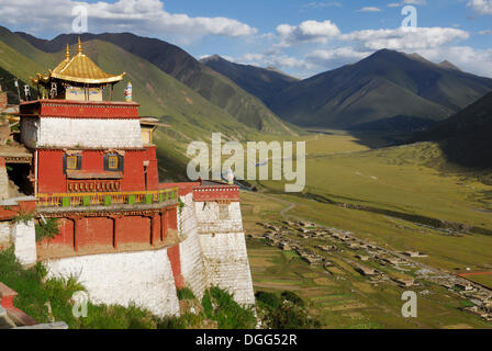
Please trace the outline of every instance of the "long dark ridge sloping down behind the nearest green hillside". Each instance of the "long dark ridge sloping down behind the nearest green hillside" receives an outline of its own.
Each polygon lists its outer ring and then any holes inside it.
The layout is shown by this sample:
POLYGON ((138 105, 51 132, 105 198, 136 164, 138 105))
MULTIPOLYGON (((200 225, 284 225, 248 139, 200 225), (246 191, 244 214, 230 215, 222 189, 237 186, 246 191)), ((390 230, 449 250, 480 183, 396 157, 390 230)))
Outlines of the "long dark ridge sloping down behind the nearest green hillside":
MULTIPOLYGON (((60 52, 67 43, 76 44, 78 37, 75 34, 63 34, 52 41, 45 41, 25 33, 16 34, 46 53, 60 52)), ((81 39, 82 42, 93 39, 109 42, 145 59, 251 128, 289 135, 297 135, 299 132, 299 128, 286 124, 276 116, 258 98, 199 63, 178 46, 131 33, 87 33, 81 35, 81 39)))

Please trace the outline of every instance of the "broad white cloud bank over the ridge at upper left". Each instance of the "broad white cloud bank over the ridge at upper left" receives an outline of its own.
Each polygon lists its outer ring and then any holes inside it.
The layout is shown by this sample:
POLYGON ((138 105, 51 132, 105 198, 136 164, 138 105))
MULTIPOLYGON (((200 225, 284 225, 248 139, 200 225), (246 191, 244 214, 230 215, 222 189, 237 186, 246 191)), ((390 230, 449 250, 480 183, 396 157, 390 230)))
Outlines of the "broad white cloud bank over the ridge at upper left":
POLYGON ((177 34, 190 37, 222 35, 239 37, 253 35, 256 29, 234 19, 191 18, 172 14, 160 0, 118 0, 114 3, 72 0, 0 0, 0 22, 27 29, 31 32, 56 30, 70 32, 75 7, 88 10, 89 32, 131 31, 142 35, 177 34), (46 11, 49 9, 49 11, 46 11))

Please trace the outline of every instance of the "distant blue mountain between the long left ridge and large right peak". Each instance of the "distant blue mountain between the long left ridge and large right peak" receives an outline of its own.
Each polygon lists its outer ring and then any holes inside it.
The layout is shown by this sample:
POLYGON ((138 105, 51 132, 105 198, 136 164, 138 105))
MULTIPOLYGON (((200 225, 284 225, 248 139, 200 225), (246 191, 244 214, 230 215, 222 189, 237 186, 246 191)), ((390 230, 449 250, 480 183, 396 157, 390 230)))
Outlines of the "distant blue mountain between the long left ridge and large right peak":
POLYGON ((217 71, 237 86, 257 97, 268 105, 273 97, 299 79, 270 67, 259 68, 250 65, 231 63, 219 55, 209 56, 200 60, 202 64, 217 71))

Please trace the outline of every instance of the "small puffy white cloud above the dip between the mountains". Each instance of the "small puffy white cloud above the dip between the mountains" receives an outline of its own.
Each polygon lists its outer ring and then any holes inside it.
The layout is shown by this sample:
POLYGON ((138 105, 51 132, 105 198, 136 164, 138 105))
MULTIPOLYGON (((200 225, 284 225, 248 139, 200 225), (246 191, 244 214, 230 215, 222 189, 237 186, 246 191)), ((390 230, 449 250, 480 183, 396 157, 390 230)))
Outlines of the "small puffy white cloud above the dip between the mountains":
POLYGON ((277 34, 281 38, 281 44, 290 46, 300 42, 326 43, 340 34, 339 29, 329 20, 324 22, 304 21, 300 25, 280 24, 277 26, 277 34))

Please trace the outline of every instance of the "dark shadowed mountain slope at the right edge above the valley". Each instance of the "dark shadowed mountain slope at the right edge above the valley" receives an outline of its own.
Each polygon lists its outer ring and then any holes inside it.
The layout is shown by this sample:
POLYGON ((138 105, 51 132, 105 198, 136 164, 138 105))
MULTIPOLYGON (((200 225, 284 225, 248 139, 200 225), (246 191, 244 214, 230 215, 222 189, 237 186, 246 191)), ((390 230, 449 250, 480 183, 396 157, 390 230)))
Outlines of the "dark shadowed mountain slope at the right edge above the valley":
POLYGON ((492 92, 424 132, 417 140, 438 141, 448 161, 492 168, 492 92))

